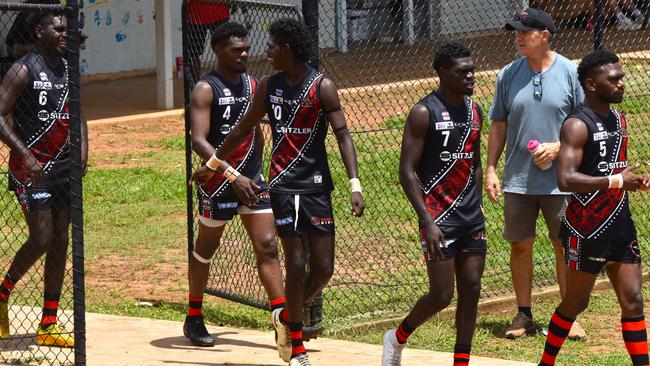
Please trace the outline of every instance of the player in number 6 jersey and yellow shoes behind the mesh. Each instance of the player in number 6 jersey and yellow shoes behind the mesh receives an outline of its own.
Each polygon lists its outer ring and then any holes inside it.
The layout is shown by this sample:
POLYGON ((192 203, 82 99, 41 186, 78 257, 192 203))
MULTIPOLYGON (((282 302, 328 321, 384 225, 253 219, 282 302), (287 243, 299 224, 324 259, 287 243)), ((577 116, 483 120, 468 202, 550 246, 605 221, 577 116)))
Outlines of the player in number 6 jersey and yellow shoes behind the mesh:
MULTIPOLYGON (((10 152, 10 188, 22 205, 29 237, 0 284, 0 338, 9 338, 7 302, 14 285, 45 254, 43 317, 39 345, 73 347, 57 322, 70 225, 67 17, 36 15, 36 46, 19 59, 0 85, 0 139, 10 152), (13 116, 13 127, 7 116, 13 116)), ((85 174, 88 137, 81 119, 85 174)))

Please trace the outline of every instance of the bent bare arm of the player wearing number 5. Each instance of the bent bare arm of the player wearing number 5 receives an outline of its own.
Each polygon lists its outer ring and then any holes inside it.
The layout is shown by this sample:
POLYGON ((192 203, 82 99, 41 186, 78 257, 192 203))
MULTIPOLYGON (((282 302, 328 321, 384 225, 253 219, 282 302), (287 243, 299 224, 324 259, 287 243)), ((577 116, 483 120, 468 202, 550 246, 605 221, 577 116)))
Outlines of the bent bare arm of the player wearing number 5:
MULTIPOLYGON (((560 132, 562 144, 557 171, 558 187, 562 191, 587 193, 609 187, 608 177, 592 177, 578 172, 584 146, 588 140, 587 134, 587 126, 577 118, 569 118, 562 125, 560 132)), ((629 166, 621 172, 623 189, 626 191, 636 191, 644 184, 646 178, 633 173, 636 168, 636 166, 629 166)))

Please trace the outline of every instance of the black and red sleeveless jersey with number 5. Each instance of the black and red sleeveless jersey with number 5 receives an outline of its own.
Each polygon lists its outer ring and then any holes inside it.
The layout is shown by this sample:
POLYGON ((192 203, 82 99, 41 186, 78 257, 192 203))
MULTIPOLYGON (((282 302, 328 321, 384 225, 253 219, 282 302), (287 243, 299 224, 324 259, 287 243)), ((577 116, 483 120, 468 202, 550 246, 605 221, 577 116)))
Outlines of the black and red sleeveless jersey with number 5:
MULTIPOLYGON (((604 177, 623 171, 627 162, 627 121, 615 109, 602 119, 585 105, 579 105, 569 118, 581 120, 588 131, 578 172, 604 177)), ((566 121, 566 120, 565 120, 566 121)), ((573 193, 562 220, 561 235, 585 239, 633 239, 636 229, 628 206, 627 192, 606 189, 573 193)))

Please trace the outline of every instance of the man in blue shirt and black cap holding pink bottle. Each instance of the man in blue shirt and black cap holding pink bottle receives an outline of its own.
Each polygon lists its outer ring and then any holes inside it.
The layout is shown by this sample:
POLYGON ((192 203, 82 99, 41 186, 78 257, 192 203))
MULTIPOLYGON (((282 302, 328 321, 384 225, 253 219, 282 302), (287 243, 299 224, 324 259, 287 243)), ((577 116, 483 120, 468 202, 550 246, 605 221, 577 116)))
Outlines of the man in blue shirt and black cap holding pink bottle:
MULTIPOLYGON (((584 93, 577 66, 551 49, 556 28, 550 15, 528 8, 505 28, 515 31, 515 45, 522 57, 504 67, 497 77, 490 111, 485 189, 490 200, 498 203, 501 185, 496 166, 505 146, 503 236, 512 244, 510 270, 519 306, 506 338, 519 338, 536 330, 531 291, 539 211, 553 243, 560 293, 565 293, 566 266, 558 235, 568 196, 557 187, 555 160, 562 121, 582 103, 584 93), (541 143, 533 153, 528 150, 531 140, 541 143)), ((570 337, 584 337, 579 324, 570 337)))

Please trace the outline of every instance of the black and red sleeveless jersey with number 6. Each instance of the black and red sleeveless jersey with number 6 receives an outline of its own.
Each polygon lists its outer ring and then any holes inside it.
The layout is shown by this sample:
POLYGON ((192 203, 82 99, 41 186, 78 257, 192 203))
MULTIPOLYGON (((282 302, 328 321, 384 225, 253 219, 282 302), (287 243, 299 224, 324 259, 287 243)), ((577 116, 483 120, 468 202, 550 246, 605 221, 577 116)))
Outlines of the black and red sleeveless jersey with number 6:
MULTIPOLYGON (((43 167, 45 178, 39 185, 65 183, 70 169, 68 63, 61 58, 52 67, 36 50, 16 63, 29 71, 25 90, 11 110, 13 130, 43 167)), ((23 159, 14 151, 9 173, 10 188, 31 185, 23 159)))

